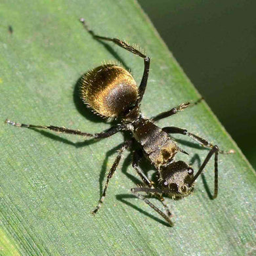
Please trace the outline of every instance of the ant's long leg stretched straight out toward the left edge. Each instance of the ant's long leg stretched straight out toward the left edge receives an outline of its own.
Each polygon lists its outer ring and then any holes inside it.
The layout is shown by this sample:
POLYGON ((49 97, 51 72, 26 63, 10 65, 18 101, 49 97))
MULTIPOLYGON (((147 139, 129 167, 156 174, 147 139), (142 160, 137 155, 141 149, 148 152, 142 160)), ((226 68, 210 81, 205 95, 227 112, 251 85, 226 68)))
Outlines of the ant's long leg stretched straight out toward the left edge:
POLYGON ((110 127, 110 129, 108 129, 106 131, 102 131, 101 133, 93 134, 93 133, 84 133, 84 132, 79 131, 79 130, 67 129, 65 127, 58 127, 58 126, 53 126, 53 125, 50 125, 50 126, 26 125, 24 123, 15 123, 14 121, 11 121, 9 119, 6 119, 5 123, 9 123, 10 125, 17 126, 17 127, 25 127, 25 128, 28 128, 28 129, 49 129, 49 130, 54 131, 56 133, 68 133, 68 134, 72 134, 72 135, 92 137, 94 139, 107 138, 107 137, 110 137, 110 136, 114 135, 115 133, 118 133, 122 129, 124 129, 124 127, 122 125, 117 125, 117 126, 112 126, 112 127, 110 127))

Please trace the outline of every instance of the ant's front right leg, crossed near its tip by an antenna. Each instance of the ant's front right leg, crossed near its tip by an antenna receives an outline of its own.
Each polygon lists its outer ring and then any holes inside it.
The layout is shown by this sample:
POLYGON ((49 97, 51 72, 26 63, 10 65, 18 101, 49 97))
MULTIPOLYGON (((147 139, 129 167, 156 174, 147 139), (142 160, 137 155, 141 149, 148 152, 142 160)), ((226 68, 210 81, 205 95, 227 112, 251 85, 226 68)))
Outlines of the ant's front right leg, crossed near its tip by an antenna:
MULTIPOLYGON (((203 139, 202 137, 194 135, 193 133, 189 133, 186 129, 171 126, 171 127, 164 127, 162 130, 165 131, 166 133, 171 133, 171 134, 178 133, 178 134, 181 134, 181 135, 186 135, 186 136, 190 137, 192 140, 195 140, 196 142, 201 144, 202 146, 205 146, 206 148, 213 148, 213 144, 211 142, 203 139)), ((232 154, 232 153, 234 153, 234 150, 229 150, 228 152, 223 151, 223 150, 218 150, 218 151, 221 154, 232 154)))

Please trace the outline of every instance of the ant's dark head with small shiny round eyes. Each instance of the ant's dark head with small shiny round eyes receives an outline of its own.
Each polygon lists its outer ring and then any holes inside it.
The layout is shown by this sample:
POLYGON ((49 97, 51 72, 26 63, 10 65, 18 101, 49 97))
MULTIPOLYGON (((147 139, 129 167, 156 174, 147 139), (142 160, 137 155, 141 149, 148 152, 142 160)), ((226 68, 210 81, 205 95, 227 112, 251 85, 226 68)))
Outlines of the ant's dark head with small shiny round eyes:
POLYGON ((170 196, 187 196, 192 192, 194 170, 184 161, 174 161, 160 169, 160 185, 170 196))

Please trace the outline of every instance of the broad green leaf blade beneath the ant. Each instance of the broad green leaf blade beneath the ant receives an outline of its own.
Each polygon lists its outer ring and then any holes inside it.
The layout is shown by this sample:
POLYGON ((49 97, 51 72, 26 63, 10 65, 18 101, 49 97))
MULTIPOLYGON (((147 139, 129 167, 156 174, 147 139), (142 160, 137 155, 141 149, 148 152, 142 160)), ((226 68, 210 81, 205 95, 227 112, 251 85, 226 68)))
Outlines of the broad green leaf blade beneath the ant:
MULTIPOLYGON (((213 189, 213 161, 192 196, 179 201, 167 198, 173 228, 144 202, 129 196, 137 185, 129 153, 110 181, 102 209, 91 215, 104 174, 123 142, 121 134, 92 143, 4 123, 8 117, 89 133, 110 127, 81 104, 77 79, 104 60, 119 60, 139 83, 143 61, 112 43, 95 41, 79 23, 80 17, 99 35, 139 43, 152 57, 142 101, 145 116, 200 98, 137 3, 1 1, 0 17, 1 255, 255 253, 255 172, 205 102, 159 121, 160 127, 184 127, 236 154, 219 156, 216 200, 207 194, 208 188, 213 189)), ((197 154, 203 161, 207 150, 186 137, 177 140, 190 154, 178 158, 189 163, 197 154)), ((161 207, 153 198, 152 202, 161 207)))

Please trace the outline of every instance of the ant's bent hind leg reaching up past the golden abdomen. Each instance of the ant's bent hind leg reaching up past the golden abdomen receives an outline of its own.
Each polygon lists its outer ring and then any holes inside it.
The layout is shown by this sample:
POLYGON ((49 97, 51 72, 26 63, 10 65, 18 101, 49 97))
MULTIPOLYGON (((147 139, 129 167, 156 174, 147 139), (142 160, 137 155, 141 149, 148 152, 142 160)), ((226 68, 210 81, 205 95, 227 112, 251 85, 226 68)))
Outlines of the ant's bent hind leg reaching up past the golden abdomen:
POLYGON ((83 24, 83 27, 85 28, 85 30, 87 30, 87 32, 91 33, 91 35, 93 35, 93 37, 95 39, 112 41, 113 43, 116 43, 116 45, 119 45, 120 47, 129 51, 130 53, 136 54, 137 56, 140 56, 141 58, 144 59, 144 72, 143 72, 142 79, 140 81, 140 86, 139 86, 139 98, 138 98, 138 103, 139 103, 142 100, 142 97, 146 90, 146 83, 148 81, 148 74, 149 74, 149 70, 150 70, 150 58, 148 56, 146 56, 145 54, 141 53, 141 51, 139 51, 139 50, 135 49, 134 47, 132 47, 131 45, 129 45, 128 43, 125 43, 124 41, 121 41, 117 38, 102 37, 100 35, 95 35, 93 30, 90 30, 88 28, 87 24, 85 23, 84 18, 80 18, 80 22, 83 24))

